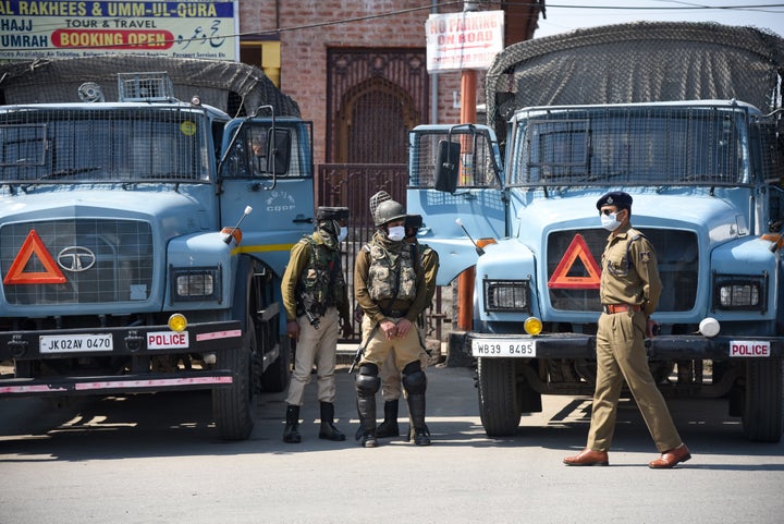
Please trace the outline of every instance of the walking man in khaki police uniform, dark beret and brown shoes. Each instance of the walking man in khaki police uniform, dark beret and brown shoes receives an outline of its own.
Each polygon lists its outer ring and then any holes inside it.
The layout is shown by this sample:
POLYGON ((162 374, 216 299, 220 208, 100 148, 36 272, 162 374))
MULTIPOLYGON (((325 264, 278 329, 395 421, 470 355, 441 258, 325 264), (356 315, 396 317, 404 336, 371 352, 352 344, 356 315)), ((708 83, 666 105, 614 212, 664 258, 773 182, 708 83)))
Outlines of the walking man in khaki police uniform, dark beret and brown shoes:
POLYGON ((645 349, 653 337, 662 284, 656 252, 648 239, 632 229, 632 196, 616 191, 597 202, 602 227, 611 231, 601 258, 599 297, 602 314, 597 331, 597 383, 586 448, 564 459, 571 466, 609 464, 608 450, 624 380, 632 390, 661 456, 648 465, 670 468, 691 459, 675 429, 666 403, 653 380, 645 349))

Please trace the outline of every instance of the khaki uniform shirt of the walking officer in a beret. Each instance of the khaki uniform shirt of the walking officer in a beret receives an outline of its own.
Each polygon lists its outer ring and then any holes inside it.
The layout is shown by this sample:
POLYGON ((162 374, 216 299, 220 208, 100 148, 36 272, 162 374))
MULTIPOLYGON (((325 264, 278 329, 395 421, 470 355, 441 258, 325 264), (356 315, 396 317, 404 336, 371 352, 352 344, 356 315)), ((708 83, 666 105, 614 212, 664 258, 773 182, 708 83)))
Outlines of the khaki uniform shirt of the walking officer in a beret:
POLYGON ((662 284, 651 243, 630 226, 608 239, 601 261, 602 304, 635 304, 647 317, 659 305, 662 284), (639 235, 639 236, 638 236, 639 235), (633 237, 638 236, 636 240, 633 237))

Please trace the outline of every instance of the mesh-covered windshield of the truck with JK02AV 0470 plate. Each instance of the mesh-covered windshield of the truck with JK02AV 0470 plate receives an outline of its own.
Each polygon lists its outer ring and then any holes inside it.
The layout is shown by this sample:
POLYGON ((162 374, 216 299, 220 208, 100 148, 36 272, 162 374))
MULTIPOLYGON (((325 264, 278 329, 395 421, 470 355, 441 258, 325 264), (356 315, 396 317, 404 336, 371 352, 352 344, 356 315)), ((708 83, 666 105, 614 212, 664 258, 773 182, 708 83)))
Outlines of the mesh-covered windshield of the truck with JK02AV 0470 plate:
POLYGON ((155 107, 0 111, 0 181, 204 182, 210 173, 204 119, 155 107))

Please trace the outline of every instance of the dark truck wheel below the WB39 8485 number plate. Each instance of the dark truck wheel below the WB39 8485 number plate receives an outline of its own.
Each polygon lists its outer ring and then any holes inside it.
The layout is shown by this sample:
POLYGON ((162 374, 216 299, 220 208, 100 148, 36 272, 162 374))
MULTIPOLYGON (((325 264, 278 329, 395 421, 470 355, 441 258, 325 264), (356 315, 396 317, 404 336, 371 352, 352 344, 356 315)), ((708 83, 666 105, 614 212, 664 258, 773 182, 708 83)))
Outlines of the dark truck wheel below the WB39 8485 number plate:
POLYGON ((479 414, 488 437, 512 437, 519 426, 513 358, 478 358, 479 414))

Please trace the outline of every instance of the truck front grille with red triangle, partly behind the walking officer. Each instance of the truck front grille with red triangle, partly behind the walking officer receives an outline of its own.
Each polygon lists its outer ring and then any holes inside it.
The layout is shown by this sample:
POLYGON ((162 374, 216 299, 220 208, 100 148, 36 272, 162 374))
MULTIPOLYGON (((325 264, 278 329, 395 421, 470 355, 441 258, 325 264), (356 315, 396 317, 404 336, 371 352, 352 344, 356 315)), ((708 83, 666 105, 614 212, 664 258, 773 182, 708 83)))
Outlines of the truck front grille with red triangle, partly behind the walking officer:
MULTIPOLYGON (((699 279, 697 235, 691 231, 661 229, 640 231, 653 244, 659 260, 659 275, 663 289, 657 310, 690 310, 695 306, 699 279)), ((601 269, 601 254, 607 237, 608 232, 603 229, 556 231, 549 235, 548 292, 552 307, 571 312, 601 309, 598 273, 588 267, 591 266, 591 260, 583 246, 587 246, 596 266, 601 269), (577 234, 581 236, 581 242, 575 242, 577 234), (564 259, 566 261, 562 264, 564 259), (572 260, 571 265, 568 265, 569 260, 572 260)))

